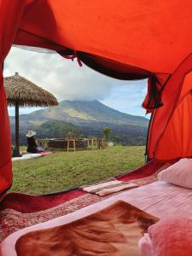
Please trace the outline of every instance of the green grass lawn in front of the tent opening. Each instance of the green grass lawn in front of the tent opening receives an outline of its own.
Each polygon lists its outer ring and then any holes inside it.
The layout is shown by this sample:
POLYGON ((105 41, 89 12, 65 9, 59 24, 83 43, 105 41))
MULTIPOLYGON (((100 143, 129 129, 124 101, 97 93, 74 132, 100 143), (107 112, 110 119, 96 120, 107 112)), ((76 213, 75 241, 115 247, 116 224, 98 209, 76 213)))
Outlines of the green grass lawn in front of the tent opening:
POLYGON ((116 146, 15 161, 11 190, 43 194, 100 181, 142 166, 144 150, 143 146, 116 146))

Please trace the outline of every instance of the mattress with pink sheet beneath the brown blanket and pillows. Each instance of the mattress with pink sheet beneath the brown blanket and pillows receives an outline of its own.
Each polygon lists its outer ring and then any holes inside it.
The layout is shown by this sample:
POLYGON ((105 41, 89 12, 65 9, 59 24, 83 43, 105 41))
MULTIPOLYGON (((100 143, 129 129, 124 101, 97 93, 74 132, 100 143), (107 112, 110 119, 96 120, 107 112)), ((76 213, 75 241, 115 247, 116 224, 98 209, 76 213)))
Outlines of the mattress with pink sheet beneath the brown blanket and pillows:
POLYGON ((1 244, 2 256, 16 256, 15 242, 17 239, 32 230, 41 230, 68 224, 79 218, 84 218, 92 213, 110 206, 116 201, 126 201, 145 212, 158 218, 183 217, 192 218, 192 189, 183 189, 165 182, 154 182, 146 186, 131 189, 114 195, 105 201, 97 202, 89 207, 84 207, 77 212, 67 214, 60 218, 51 219, 45 223, 19 230, 8 236, 1 244))

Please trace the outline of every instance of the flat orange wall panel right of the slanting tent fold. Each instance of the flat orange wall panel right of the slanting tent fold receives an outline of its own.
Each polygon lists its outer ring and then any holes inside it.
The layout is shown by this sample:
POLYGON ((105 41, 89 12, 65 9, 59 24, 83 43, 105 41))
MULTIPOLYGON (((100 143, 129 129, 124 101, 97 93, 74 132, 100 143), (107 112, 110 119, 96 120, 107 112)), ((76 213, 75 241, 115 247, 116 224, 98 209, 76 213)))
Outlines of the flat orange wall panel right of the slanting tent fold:
POLYGON ((183 98, 175 109, 172 119, 166 127, 160 140, 155 157, 158 159, 175 159, 192 155, 192 91, 183 98), (169 142, 169 143, 167 143, 169 142))

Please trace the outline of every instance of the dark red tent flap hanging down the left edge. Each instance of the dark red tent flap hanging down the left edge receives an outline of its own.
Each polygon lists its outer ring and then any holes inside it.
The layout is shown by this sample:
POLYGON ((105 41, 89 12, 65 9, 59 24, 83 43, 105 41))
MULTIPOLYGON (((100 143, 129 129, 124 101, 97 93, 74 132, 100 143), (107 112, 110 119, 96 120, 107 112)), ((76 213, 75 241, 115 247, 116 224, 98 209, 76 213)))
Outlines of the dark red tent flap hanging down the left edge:
POLYGON ((23 13, 24 3, 0 1, 0 193, 12 183, 11 143, 7 99, 3 87, 3 61, 14 42, 15 34, 23 13))

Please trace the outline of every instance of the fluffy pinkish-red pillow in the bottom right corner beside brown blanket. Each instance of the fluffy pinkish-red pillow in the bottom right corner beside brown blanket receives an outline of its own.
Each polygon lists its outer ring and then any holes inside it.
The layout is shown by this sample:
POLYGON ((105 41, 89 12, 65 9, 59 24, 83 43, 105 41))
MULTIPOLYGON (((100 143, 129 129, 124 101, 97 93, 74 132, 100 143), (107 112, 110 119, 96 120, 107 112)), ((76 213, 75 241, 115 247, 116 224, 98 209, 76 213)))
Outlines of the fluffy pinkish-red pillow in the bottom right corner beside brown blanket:
POLYGON ((191 256, 192 220, 166 218, 148 228, 138 243, 142 256, 191 256))

